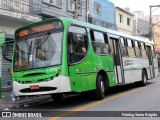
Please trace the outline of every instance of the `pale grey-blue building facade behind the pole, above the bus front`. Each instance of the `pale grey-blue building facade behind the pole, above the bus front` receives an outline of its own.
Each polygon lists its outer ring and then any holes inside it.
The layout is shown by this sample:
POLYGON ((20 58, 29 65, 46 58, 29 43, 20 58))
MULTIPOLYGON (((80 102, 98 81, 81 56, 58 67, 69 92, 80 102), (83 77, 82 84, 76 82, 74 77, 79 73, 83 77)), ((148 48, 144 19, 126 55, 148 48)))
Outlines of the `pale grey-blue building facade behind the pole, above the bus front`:
POLYGON ((80 21, 86 21, 86 0, 30 0, 30 12, 40 15, 43 19, 69 17, 75 14, 80 21))

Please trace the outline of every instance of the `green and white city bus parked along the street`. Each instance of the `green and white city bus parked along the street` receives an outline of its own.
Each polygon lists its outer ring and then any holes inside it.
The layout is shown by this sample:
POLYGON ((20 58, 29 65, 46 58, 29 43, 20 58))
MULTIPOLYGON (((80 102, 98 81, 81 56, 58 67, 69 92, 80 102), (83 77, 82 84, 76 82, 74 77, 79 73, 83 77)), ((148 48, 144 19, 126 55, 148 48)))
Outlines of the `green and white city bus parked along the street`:
POLYGON ((15 31, 12 57, 13 88, 17 96, 91 91, 103 99, 117 85, 158 75, 154 42, 81 22, 51 18, 15 31))

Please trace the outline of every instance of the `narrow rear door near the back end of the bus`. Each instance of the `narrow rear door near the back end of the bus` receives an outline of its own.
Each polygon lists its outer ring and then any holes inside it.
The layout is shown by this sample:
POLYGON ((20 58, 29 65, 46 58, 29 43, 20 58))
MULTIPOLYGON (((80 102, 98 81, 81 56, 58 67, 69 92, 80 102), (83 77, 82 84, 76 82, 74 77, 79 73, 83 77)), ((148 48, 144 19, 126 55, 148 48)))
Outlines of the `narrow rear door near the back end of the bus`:
POLYGON ((154 78, 155 77, 155 71, 154 71, 154 63, 153 63, 151 46, 146 45, 146 53, 147 53, 147 57, 148 57, 148 60, 149 60, 149 68, 150 68, 151 78, 154 78))

